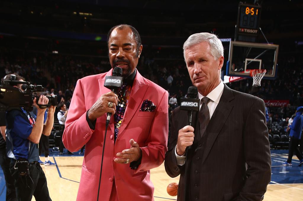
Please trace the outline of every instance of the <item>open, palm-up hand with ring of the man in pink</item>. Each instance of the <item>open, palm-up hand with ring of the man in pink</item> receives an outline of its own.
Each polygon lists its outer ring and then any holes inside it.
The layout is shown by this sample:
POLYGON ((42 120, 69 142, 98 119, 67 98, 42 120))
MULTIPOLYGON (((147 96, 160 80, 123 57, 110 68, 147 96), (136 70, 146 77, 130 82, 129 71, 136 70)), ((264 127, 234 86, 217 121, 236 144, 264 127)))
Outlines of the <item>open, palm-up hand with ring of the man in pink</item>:
POLYGON ((129 141, 131 148, 130 149, 124 149, 122 153, 117 153, 117 157, 115 159, 116 163, 125 164, 126 160, 129 158, 129 163, 132 161, 138 161, 139 158, 141 158, 142 151, 139 148, 139 145, 137 142, 135 142, 133 139, 129 141))

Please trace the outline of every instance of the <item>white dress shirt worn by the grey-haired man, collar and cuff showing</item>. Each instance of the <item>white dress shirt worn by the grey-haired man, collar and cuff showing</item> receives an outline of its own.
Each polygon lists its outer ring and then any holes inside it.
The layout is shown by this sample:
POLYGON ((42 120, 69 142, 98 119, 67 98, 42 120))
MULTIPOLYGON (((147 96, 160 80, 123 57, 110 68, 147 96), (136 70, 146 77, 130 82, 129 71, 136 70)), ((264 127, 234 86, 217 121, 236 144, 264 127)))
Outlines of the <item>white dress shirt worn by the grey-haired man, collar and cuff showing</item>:
MULTIPOLYGON (((216 88, 214 88, 206 96, 210 99, 208 104, 207 104, 208 110, 209 110, 209 119, 211 119, 211 116, 213 115, 217 105, 219 104, 220 98, 221 98, 222 93, 223 93, 223 89, 224 89, 224 84, 221 80, 219 85, 216 88)), ((204 98, 204 96, 200 93, 198 93, 198 96, 199 96, 200 103, 201 103, 201 99, 204 98)), ((200 109, 201 109, 201 106, 202 106, 202 104, 200 104, 200 109)), ((184 163, 185 163, 185 153, 182 156, 179 156, 177 154, 176 148, 177 148, 177 145, 175 147, 175 155, 176 155, 177 164, 178 165, 184 165, 184 163)))

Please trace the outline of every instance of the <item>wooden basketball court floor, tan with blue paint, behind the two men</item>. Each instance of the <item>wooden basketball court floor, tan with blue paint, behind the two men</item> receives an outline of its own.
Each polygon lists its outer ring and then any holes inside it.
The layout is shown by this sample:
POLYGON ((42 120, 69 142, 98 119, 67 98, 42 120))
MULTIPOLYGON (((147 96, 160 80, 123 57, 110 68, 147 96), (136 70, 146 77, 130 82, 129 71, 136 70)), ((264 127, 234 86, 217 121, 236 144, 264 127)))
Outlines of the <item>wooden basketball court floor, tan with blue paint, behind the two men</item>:
MULTIPOLYGON (((298 160, 295 157, 292 161, 293 167, 281 166, 281 162, 287 158, 285 153, 287 150, 274 151, 283 151, 283 153, 272 153, 272 182, 268 185, 264 200, 303 200, 303 182, 293 183, 303 180, 303 167, 298 167, 298 160)), ((50 158, 51 161, 55 160, 57 166, 42 165, 42 168, 47 177, 52 200, 76 200, 83 156, 54 156, 50 158)), ((42 161, 43 159, 44 157, 42 157, 42 161)), ((166 187, 169 183, 178 183, 179 177, 170 178, 165 172, 164 163, 151 170, 151 180, 155 186, 155 201, 176 200, 176 196, 168 195, 166 187)))

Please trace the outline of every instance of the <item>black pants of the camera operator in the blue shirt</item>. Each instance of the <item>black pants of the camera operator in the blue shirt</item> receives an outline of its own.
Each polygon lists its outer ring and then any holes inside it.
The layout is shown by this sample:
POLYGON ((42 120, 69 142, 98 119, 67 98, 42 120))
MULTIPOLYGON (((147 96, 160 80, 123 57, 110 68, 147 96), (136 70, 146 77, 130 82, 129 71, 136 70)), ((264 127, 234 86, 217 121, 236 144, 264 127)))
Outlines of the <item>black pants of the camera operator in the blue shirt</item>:
POLYGON ((29 175, 19 176, 14 169, 16 160, 12 159, 10 171, 15 180, 15 189, 18 201, 31 201, 34 196, 36 201, 52 201, 49 197, 45 174, 38 162, 28 165, 29 175))

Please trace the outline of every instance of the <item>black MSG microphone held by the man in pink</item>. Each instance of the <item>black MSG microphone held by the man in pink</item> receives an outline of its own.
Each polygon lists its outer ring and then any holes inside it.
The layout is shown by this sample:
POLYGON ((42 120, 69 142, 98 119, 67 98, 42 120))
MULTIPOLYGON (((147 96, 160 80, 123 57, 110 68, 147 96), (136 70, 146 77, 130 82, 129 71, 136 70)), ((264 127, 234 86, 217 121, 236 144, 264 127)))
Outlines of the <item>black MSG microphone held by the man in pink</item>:
MULTIPOLYGON (((122 77, 122 68, 115 67, 113 70, 112 76, 106 76, 104 86, 108 89, 111 89, 115 94, 118 93, 119 89, 122 87, 123 77, 122 77)), ((108 112, 106 117, 106 127, 111 120, 112 113, 108 112)))

